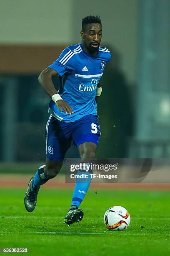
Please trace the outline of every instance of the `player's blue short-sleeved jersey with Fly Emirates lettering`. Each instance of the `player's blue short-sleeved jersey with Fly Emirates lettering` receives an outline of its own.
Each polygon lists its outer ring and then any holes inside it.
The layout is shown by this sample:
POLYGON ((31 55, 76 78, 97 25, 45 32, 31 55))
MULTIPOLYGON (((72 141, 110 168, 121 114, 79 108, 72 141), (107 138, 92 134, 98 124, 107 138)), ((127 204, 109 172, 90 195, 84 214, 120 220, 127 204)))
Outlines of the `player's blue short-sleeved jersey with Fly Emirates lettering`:
POLYGON ((59 74, 58 93, 72 108, 74 114, 60 112, 53 100, 49 102, 49 113, 60 121, 74 122, 86 115, 96 115, 96 89, 105 64, 110 61, 110 51, 99 47, 97 55, 87 54, 82 44, 68 46, 49 68, 59 74))

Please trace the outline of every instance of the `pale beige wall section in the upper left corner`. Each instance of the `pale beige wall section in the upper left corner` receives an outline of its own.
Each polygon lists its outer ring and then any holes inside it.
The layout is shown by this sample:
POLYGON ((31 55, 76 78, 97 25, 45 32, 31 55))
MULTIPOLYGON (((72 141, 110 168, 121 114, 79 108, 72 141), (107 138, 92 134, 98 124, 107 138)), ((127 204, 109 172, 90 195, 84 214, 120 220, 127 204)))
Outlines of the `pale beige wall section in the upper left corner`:
POLYGON ((67 44, 72 0, 0 1, 0 44, 67 44))

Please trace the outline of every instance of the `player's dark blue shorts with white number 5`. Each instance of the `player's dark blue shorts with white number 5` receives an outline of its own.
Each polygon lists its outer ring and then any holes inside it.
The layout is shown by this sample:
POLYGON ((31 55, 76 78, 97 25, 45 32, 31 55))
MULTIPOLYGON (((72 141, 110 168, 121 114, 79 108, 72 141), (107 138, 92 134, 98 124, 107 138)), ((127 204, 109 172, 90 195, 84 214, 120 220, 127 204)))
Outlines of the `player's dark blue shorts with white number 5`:
POLYGON ((46 125, 46 154, 53 161, 63 160, 71 141, 75 146, 93 142, 98 146, 100 125, 98 115, 86 115, 75 122, 62 122, 50 115, 46 125))

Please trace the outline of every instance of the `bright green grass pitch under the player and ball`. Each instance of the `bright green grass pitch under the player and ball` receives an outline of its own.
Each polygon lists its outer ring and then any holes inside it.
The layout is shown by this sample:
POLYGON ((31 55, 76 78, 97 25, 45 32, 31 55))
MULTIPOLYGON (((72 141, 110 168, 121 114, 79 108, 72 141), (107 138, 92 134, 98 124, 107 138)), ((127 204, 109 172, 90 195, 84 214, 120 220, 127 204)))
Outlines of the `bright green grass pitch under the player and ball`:
MULTIPOLYGON (((72 190, 41 188, 35 211, 23 205, 23 189, 0 189, 0 247, 28 248, 28 255, 170 255, 170 192, 91 189, 81 208, 84 218, 62 224, 72 190), (128 209, 122 232, 105 228, 103 215, 114 205, 128 209)), ((18 254, 18 253, 17 253, 18 254)), ((23 253, 20 253, 23 254, 23 253)))

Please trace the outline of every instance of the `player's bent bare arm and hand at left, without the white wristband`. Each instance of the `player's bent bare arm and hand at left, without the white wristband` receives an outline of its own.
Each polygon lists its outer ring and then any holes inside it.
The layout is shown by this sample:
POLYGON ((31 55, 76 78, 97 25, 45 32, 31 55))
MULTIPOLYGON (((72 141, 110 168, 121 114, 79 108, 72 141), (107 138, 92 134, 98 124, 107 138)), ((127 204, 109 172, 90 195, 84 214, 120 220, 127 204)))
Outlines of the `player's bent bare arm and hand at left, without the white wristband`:
MULTIPOLYGON (((58 73, 54 69, 46 68, 38 77, 38 82, 41 84, 42 88, 45 90, 45 92, 47 92, 47 95, 49 95, 50 98, 52 95, 57 94, 57 91, 55 90, 54 84, 52 82, 52 77, 57 75, 58 73)), ((66 114, 73 114, 72 108, 64 100, 57 100, 55 104, 60 109, 61 113, 63 109, 66 114)))

